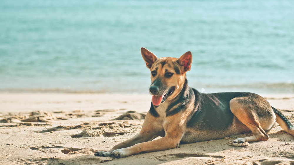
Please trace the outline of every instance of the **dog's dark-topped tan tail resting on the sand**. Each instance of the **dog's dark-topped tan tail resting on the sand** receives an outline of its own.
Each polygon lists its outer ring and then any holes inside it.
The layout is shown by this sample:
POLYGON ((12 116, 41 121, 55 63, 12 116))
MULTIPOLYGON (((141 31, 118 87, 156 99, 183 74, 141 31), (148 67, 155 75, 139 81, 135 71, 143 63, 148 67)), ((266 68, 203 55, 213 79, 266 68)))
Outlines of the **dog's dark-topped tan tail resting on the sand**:
POLYGON ((276 115, 276 121, 279 123, 279 125, 285 130, 288 134, 294 136, 294 126, 290 123, 290 121, 286 118, 283 113, 281 113, 276 108, 272 107, 273 111, 276 115))

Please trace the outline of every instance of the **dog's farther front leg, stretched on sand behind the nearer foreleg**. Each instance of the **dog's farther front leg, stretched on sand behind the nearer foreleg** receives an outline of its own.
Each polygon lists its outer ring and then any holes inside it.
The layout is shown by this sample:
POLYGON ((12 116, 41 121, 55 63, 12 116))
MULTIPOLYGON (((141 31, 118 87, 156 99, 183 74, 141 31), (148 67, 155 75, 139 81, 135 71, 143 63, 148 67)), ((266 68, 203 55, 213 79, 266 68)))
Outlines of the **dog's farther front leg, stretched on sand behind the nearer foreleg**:
POLYGON ((110 150, 108 150, 106 152, 105 151, 98 151, 94 155, 100 156, 100 157, 111 157, 111 152, 116 150, 116 149, 130 147, 130 146, 133 146, 133 145, 135 145, 137 143, 147 142, 149 140, 154 139, 155 137, 156 136, 154 136, 152 134, 140 132, 139 134, 135 135, 131 139, 126 140, 124 142, 121 142, 121 143, 115 145, 112 149, 110 149, 110 150))

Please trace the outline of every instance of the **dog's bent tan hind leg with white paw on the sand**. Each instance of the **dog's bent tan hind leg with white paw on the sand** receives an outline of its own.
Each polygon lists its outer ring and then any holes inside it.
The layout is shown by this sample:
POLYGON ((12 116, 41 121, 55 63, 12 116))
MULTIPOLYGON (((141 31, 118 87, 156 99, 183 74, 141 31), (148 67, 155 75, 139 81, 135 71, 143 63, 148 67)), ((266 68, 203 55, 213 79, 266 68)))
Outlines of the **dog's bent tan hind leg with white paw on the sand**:
POLYGON ((264 98, 253 93, 233 98, 230 101, 230 109, 238 120, 253 133, 250 137, 234 140, 234 143, 267 141, 269 139, 266 132, 269 132, 273 127, 275 115, 270 104, 264 98))

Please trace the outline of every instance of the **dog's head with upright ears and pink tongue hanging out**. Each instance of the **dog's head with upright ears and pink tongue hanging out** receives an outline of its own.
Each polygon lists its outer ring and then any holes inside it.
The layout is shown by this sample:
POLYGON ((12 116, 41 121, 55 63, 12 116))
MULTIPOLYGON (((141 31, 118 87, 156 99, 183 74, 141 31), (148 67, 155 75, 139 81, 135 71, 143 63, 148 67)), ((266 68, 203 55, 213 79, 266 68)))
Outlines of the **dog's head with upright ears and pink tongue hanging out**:
POLYGON ((149 92, 155 106, 166 100, 175 98, 183 89, 186 72, 191 69, 192 54, 186 52, 180 58, 157 58, 146 48, 141 48, 141 54, 146 67, 151 71, 151 85, 149 92))

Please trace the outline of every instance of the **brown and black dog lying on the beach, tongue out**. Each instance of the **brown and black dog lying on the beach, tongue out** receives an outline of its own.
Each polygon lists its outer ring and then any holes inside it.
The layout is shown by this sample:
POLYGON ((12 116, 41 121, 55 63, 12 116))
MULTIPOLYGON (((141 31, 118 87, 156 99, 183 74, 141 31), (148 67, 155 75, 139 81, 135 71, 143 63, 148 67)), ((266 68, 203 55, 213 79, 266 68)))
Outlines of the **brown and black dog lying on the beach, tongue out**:
POLYGON ((192 54, 180 58, 157 58, 141 48, 146 66, 151 71, 151 107, 138 135, 96 156, 127 157, 140 152, 172 149, 179 143, 222 139, 252 132, 250 137, 234 143, 269 139, 275 120, 290 135, 294 127, 289 120, 255 93, 200 93, 188 86, 186 72, 191 69, 192 54), (156 137, 162 137, 153 140, 156 137))

